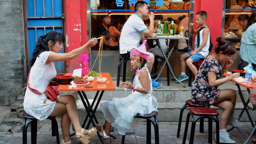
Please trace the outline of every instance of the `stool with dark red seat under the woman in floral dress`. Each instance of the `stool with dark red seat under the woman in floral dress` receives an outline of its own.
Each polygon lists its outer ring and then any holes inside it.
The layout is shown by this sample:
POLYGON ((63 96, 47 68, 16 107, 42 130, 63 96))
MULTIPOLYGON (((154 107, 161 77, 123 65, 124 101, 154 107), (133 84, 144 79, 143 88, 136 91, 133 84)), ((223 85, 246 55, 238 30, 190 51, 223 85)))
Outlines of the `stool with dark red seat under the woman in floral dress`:
MULTIPOLYGON (((187 107, 205 107, 205 105, 196 104, 196 103, 192 102, 191 100, 187 100, 186 101, 186 104, 184 104, 182 106, 181 112, 180 112, 179 125, 178 125, 178 131, 177 131, 177 138, 180 138, 182 115, 183 115, 183 111, 187 107)), ((200 132, 203 133, 203 117, 200 119, 200 132)))

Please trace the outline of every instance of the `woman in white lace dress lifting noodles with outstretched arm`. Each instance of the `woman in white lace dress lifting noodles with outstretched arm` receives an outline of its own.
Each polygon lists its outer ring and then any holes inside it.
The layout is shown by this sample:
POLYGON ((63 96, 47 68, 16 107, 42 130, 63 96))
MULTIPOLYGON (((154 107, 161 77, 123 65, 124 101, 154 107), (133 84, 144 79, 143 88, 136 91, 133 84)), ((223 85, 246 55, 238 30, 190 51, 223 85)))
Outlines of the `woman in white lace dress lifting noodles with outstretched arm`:
MULTIPOLYGON (((32 68, 30 70, 28 81, 31 88, 43 92, 49 84, 52 86, 58 85, 52 81, 57 74, 54 62, 70 60, 79 56, 89 47, 95 46, 97 40, 95 38, 90 39, 85 45, 76 48, 69 53, 59 53, 63 48, 62 44, 64 42, 65 38, 63 34, 56 31, 48 32, 46 35, 39 37, 30 63, 32 68)), ((37 118, 38 120, 44 120, 48 116, 62 115, 62 144, 71 143, 69 136, 71 121, 75 128, 76 137, 83 144, 87 144, 89 142, 88 139, 93 137, 97 131, 96 128, 90 130, 82 129, 79 123, 75 99, 71 95, 58 96, 58 100, 50 101, 47 99, 45 93, 38 95, 33 93, 27 87, 24 98, 24 110, 27 114, 37 118)))

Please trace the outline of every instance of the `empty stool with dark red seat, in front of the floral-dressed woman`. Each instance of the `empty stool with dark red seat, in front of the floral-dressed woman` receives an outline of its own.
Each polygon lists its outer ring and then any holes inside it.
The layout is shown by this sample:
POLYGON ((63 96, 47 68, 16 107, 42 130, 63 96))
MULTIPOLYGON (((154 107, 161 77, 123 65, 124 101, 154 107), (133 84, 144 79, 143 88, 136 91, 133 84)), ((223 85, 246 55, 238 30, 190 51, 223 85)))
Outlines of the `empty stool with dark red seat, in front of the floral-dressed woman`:
POLYGON ((212 120, 215 121, 215 123, 216 123, 216 144, 219 144, 219 120, 218 120, 219 113, 215 109, 212 109, 211 107, 189 107, 188 110, 189 110, 189 113, 187 114, 187 120, 186 120, 186 126, 185 126, 182 144, 186 143, 190 115, 191 115, 191 119, 192 119, 192 126, 191 126, 189 144, 193 144, 193 142, 194 142, 196 122, 198 119, 200 119, 202 117, 208 118, 208 131, 209 131, 208 143, 210 143, 210 144, 212 143, 212 120), (199 117, 194 119, 194 115, 199 116, 199 117), (216 117, 216 118, 214 118, 214 117, 216 117))

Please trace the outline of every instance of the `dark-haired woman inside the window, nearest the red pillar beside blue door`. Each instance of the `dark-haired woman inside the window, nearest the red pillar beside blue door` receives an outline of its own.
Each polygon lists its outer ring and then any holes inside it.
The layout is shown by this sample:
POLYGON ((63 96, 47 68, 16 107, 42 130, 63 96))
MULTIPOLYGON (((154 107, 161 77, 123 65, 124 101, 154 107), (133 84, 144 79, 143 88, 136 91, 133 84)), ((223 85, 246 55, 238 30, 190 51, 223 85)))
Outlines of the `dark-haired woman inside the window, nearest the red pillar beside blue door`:
POLYGON ((102 20, 102 23, 95 30, 95 36, 99 36, 103 32, 109 30, 108 25, 110 24, 110 21, 111 21, 110 15, 102 15, 101 20, 102 20))

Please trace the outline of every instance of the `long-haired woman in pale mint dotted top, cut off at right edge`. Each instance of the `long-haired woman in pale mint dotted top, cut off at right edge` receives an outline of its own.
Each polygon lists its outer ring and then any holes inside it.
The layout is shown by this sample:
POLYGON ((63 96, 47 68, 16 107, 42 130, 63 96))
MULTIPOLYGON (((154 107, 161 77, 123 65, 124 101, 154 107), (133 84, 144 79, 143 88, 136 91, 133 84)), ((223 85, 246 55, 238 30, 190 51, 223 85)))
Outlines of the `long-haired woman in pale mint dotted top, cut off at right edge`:
POLYGON ((243 29, 239 55, 242 60, 256 64, 256 11, 253 11, 243 29))

